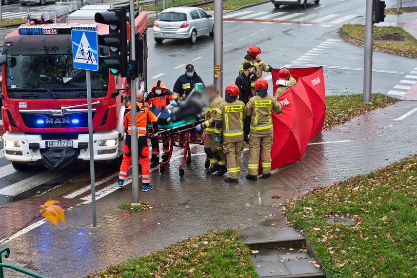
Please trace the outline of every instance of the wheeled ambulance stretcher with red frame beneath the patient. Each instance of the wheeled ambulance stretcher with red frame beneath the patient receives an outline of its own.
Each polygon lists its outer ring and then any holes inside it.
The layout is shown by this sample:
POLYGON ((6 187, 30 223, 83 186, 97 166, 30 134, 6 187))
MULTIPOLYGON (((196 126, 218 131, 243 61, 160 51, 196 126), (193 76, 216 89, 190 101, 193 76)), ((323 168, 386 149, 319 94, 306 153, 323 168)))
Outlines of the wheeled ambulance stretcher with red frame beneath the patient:
MULTIPOLYGON (((167 125, 159 125, 159 132, 156 133, 157 136, 150 138, 157 138, 159 142, 162 142, 164 147, 169 146, 168 159, 159 164, 159 172, 161 174, 165 172, 165 165, 171 160, 174 147, 180 147, 184 149, 184 155, 182 163, 179 166, 179 177, 184 176, 184 169, 182 167, 185 163, 191 165, 192 162, 190 144, 204 145, 205 135, 203 131, 196 130, 196 126, 203 121, 204 119, 193 117, 171 122, 167 125), (195 132, 191 132, 192 130, 195 130, 195 132)), ((152 127, 148 125, 148 128, 150 133, 152 133, 152 127)), ((206 168, 210 167, 209 158, 206 159, 204 166, 206 168)))

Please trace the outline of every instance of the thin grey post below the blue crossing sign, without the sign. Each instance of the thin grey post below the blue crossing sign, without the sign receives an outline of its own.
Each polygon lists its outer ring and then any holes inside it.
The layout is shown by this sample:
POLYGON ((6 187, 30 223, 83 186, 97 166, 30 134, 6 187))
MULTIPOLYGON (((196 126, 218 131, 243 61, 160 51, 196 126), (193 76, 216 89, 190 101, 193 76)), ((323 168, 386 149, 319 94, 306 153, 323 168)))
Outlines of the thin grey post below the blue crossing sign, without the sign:
POLYGON ((96 179, 94 173, 94 142, 93 142, 93 112, 91 111, 91 75, 90 71, 85 71, 87 78, 87 117, 88 117, 88 139, 90 149, 90 180, 91 180, 91 205, 93 207, 93 227, 97 226, 96 215, 96 179))

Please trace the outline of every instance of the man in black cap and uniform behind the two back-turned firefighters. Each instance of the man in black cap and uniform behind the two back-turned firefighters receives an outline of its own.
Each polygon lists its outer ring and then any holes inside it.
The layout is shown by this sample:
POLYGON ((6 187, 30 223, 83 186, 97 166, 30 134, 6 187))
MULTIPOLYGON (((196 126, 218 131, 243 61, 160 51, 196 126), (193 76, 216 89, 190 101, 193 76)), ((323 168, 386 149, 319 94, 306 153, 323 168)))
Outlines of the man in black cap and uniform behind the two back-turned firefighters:
MULTIPOLYGON (((239 100, 243 101, 245 105, 252 96, 252 88, 255 87, 256 75, 253 73, 252 64, 246 62, 243 64, 243 71, 238 76, 235 84, 239 87, 239 100)), ((251 125, 251 117, 246 117, 243 121, 243 140, 249 142, 249 131, 251 125)))

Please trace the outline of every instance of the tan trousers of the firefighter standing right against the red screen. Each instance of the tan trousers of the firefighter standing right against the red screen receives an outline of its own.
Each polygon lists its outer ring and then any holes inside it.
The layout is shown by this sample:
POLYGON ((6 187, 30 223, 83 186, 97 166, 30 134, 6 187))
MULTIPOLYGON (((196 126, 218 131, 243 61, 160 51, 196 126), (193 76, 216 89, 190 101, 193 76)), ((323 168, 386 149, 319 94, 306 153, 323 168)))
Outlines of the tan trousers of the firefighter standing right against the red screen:
POLYGON ((271 172, 272 139, 272 132, 271 134, 262 137, 257 137, 253 131, 251 132, 251 136, 249 137, 249 175, 258 175, 259 146, 262 146, 262 174, 268 174, 269 172, 271 172))

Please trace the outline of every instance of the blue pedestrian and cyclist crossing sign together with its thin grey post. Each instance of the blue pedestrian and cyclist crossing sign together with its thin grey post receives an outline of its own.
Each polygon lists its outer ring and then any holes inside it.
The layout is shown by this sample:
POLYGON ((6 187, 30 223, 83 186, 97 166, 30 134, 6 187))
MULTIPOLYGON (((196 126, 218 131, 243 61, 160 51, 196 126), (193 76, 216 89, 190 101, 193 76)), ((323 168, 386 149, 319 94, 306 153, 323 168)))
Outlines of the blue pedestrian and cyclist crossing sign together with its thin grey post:
POLYGON ((96 31, 71 30, 74 67, 85 70, 88 106, 88 138, 90 150, 91 205, 93 207, 93 227, 97 226, 96 179, 94 172, 93 112, 91 105, 91 72, 99 70, 98 35, 96 31))

